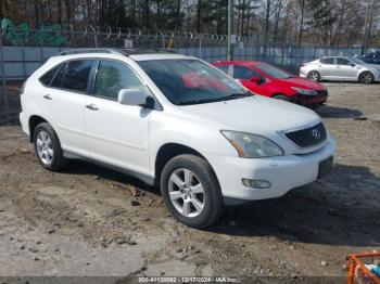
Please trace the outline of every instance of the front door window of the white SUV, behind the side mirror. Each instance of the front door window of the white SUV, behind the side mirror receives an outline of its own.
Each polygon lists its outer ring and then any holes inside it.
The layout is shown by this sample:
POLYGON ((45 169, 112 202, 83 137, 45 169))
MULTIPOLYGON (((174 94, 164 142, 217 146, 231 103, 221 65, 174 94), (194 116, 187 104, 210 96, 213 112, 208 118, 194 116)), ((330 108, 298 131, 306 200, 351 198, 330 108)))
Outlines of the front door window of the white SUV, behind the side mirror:
POLYGON ((94 83, 96 95, 116 100, 119 90, 142 87, 140 79, 126 64, 107 60, 100 62, 94 83))

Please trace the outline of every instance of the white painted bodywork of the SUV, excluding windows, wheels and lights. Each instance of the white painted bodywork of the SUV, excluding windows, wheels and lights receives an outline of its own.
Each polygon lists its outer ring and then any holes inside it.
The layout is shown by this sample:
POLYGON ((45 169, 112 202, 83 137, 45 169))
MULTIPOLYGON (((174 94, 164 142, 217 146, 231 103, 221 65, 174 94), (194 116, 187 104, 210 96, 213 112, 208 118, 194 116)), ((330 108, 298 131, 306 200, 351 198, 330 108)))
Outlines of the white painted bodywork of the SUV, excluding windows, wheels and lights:
MULTIPOLYGON (((300 149, 284 137, 320 122, 313 111, 273 99, 252 96, 226 102, 177 106, 160 91, 138 65, 142 60, 189 59, 178 54, 90 53, 50 59, 26 81, 20 115, 23 130, 30 134, 33 115, 45 118, 56 131, 63 151, 131 172, 155 178, 155 163, 163 145, 177 143, 204 156, 214 169, 225 197, 264 199, 317 179, 319 162, 333 156, 335 142, 328 134, 325 143, 300 149), (112 59, 129 65, 149 88, 162 109, 122 105, 116 101, 48 88, 38 80, 54 65, 72 59, 112 59), (45 94, 52 100, 45 100, 45 94), (94 104, 98 111, 86 107, 94 104), (233 130, 266 137, 283 151, 283 156, 241 158, 220 133, 233 130), (268 180, 270 189, 244 186, 242 178, 268 180)), ((232 79, 231 79, 232 80, 232 79)))

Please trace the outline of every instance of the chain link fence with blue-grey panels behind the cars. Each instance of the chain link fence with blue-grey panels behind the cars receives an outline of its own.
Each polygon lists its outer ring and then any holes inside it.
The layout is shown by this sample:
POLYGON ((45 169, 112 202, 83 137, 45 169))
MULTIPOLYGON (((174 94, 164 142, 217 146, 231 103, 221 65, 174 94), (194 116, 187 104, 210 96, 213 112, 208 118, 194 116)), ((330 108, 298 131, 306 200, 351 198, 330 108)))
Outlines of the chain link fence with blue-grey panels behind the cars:
MULTIPOLYGON (((207 62, 227 60, 227 36, 87 27, 84 30, 1 28, 0 122, 16 120, 18 89, 48 57, 72 48, 134 48, 174 50, 207 62)), ((313 46, 267 47, 252 38, 237 38, 235 60, 261 60, 297 73, 303 62, 326 55, 354 55, 360 48, 313 46)))

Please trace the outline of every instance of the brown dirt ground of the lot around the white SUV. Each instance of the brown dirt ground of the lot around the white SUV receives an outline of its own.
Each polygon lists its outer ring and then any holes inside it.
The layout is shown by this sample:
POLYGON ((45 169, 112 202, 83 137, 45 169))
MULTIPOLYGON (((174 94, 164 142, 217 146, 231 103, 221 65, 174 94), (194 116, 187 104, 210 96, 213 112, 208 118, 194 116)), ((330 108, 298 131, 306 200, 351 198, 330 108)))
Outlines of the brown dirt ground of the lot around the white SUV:
POLYGON ((334 171, 229 208, 204 231, 176 222, 159 192, 128 176, 78 160, 42 169, 20 126, 0 127, 0 275, 344 282, 349 254, 380 249, 380 85, 326 85, 318 113, 338 141, 334 171))

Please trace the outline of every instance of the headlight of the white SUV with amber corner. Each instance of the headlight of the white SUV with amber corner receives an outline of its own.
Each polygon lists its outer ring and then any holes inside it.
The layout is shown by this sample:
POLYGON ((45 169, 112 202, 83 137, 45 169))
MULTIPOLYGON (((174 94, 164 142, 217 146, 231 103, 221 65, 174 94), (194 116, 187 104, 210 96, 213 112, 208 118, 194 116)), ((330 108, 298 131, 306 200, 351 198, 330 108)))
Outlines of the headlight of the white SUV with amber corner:
POLYGON ((223 130, 221 134, 237 150, 240 157, 261 158, 283 155, 283 150, 265 137, 227 130, 223 130))

